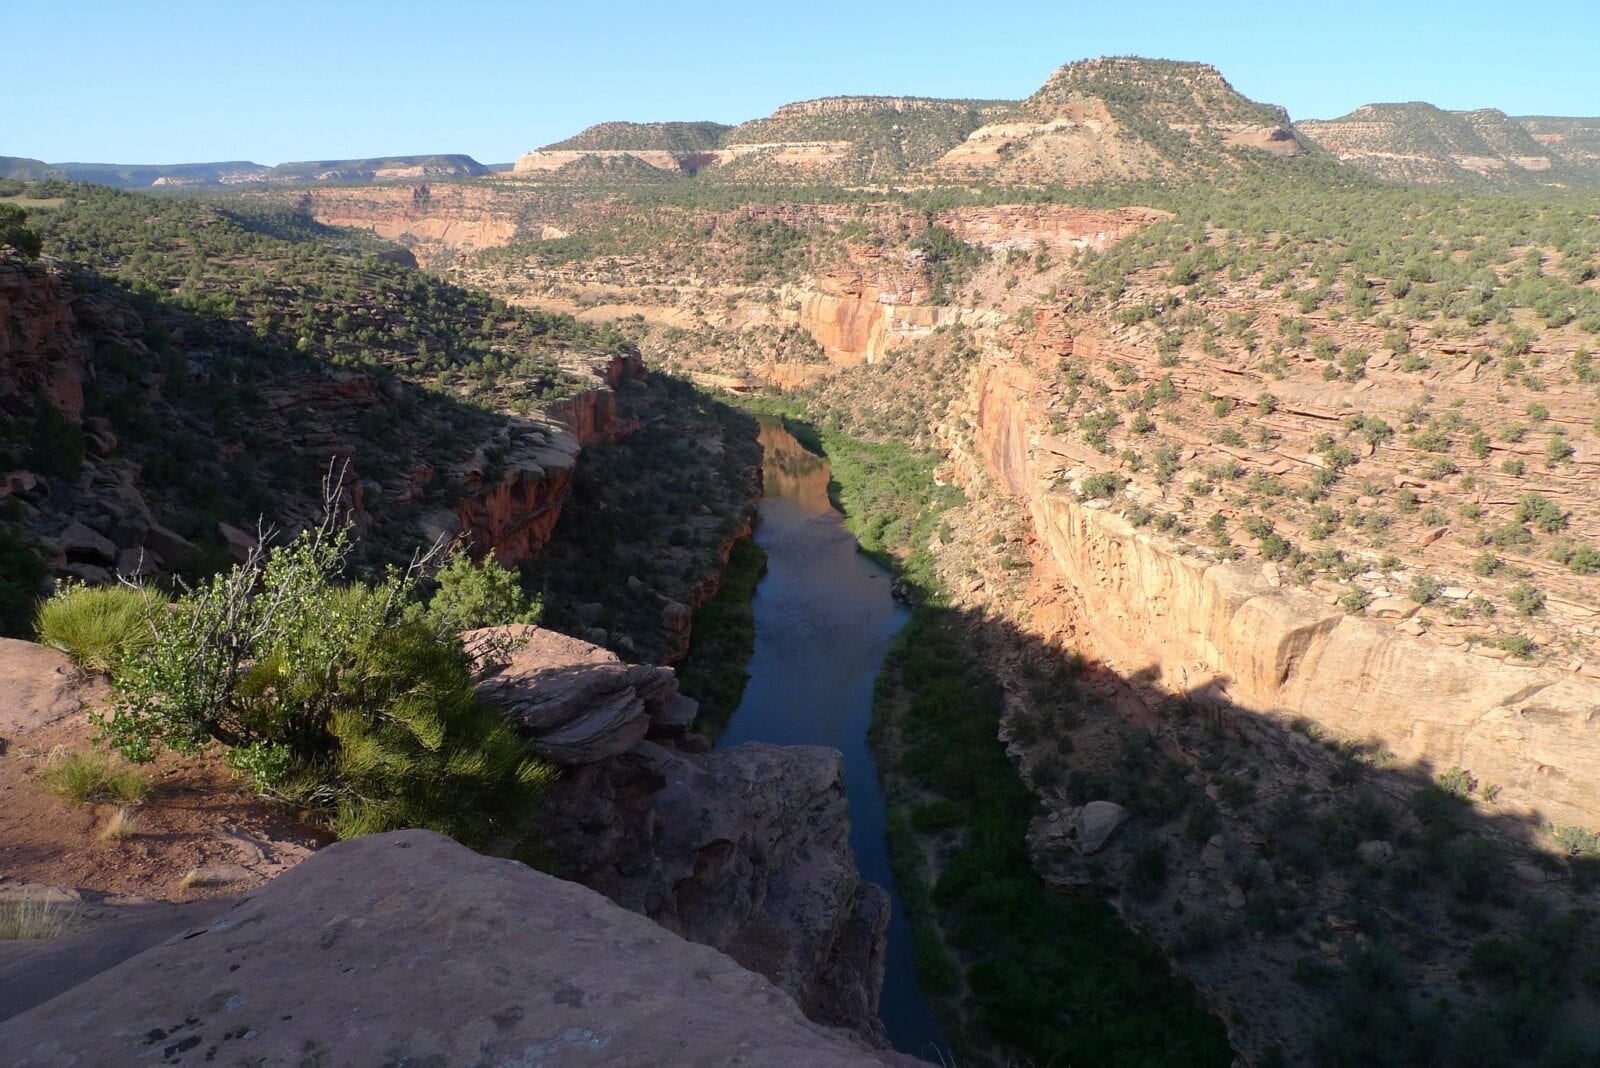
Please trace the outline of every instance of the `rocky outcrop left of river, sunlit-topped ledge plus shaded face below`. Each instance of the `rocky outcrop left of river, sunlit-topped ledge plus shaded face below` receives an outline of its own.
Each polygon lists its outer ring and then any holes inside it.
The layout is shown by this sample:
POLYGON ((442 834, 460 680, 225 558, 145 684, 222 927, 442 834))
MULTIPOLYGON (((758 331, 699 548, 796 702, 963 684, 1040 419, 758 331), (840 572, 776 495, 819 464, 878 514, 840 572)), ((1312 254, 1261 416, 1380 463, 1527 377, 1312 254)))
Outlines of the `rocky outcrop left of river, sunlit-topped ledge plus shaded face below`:
POLYGON ((510 633, 523 644, 480 692, 568 764, 542 815, 555 873, 728 953, 814 1020, 882 1044, 890 903, 856 873, 838 753, 707 750, 683 735, 696 708, 672 668, 627 665, 539 628, 510 633))

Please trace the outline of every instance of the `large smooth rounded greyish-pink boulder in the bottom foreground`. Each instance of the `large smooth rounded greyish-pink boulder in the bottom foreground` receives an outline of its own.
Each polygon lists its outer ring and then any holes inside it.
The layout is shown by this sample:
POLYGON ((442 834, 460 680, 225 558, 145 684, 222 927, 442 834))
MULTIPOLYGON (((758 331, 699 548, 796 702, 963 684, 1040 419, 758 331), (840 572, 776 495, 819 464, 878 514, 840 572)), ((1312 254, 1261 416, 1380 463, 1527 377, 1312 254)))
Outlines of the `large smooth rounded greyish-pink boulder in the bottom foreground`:
POLYGON ((906 1063, 710 948, 429 831, 315 854, 0 1022, 0 1049, 18 1068, 906 1063))

